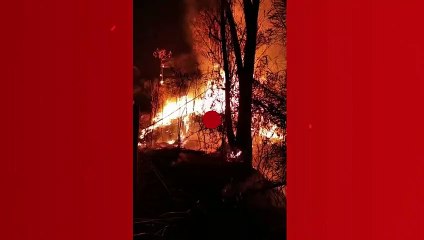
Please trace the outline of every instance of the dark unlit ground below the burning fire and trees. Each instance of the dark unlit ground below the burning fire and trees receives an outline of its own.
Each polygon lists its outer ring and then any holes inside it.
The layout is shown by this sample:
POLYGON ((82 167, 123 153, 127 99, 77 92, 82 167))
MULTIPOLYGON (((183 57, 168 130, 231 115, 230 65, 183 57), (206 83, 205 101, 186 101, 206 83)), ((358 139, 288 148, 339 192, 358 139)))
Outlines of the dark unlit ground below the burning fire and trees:
POLYGON ((175 148, 140 153, 134 239, 285 239, 285 210, 264 192, 223 194, 257 172, 222 159, 175 148))

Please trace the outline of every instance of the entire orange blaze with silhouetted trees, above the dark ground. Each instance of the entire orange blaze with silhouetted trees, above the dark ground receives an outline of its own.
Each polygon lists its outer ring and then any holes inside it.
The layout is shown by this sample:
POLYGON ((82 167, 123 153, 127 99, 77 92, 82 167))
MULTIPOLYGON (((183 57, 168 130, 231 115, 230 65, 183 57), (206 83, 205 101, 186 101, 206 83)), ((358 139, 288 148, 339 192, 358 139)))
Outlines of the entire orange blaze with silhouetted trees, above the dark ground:
MULTIPOLYGON (((142 137, 175 123, 179 145, 188 147, 196 140, 199 149, 212 150, 221 144, 211 142, 228 144, 230 155, 241 154, 246 164, 261 172, 272 169, 265 175, 285 184, 287 74, 285 38, 280 34, 285 30, 276 24, 281 16, 285 24, 285 13, 278 15, 276 2, 217 0, 197 12, 191 30, 199 72, 187 75, 174 68, 171 87, 157 84, 165 97, 154 99, 162 105, 154 107, 153 123, 142 129, 142 137), (224 116, 218 130, 202 127, 200 117, 208 110, 224 116)), ((158 49, 154 56, 160 60, 163 78, 172 55, 158 49)))

